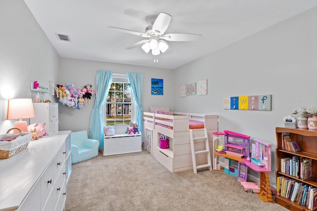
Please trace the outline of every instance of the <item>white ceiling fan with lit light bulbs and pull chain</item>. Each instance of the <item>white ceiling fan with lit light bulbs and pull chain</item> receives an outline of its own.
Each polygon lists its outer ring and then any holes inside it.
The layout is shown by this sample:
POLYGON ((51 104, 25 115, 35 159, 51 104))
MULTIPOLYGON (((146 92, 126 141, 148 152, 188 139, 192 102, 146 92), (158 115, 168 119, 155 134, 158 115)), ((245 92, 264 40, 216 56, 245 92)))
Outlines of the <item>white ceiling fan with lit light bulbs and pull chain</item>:
POLYGON ((179 33, 172 33, 172 34, 164 34, 172 16, 167 13, 161 12, 157 17, 150 18, 150 24, 145 28, 145 33, 131 31, 128 29, 121 29, 117 27, 108 26, 110 29, 118 30, 120 32, 129 33, 133 35, 138 35, 143 38, 147 38, 146 40, 142 40, 136 42, 125 49, 132 49, 138 46, 141 46, 142 49, 148 53, 152 50, 153 55, 159 55, 160 52, 164 53, 168 48, 170 48, 169 44, 166 41, 196 41, 201 39, 202 35, 197 34, 179 34, 179 33))

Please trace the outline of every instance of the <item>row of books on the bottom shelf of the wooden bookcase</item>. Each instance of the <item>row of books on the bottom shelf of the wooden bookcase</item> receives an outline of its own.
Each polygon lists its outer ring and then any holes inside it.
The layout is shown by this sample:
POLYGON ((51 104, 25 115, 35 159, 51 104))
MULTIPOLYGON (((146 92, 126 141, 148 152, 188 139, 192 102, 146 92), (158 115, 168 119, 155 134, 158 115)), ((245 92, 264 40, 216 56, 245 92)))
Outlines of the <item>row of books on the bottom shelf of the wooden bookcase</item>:
POLYGON ((276 195, 306 206, 312 211, 317 209, 317 187, 296 179, 278 176, 276 180, 276 195))

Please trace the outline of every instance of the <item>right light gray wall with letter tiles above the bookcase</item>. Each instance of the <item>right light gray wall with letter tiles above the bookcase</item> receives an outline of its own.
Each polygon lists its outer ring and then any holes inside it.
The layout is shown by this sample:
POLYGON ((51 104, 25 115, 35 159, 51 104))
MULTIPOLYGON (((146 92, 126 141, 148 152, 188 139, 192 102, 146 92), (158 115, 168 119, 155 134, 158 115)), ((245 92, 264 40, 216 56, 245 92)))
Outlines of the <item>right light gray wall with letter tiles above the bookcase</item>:
MULTIPOLYGON (((174 71, 174 110, 219 115, 225 129, 272 143, 296 107, 317 106, 317 8, 174 71), (208 80, 208 95, 178 97, 178 85, 208 80), (223 110, 224 97, 272 95, 272 111, 223 110)), ((274 172, 270 174, 275 181, 274 172)))

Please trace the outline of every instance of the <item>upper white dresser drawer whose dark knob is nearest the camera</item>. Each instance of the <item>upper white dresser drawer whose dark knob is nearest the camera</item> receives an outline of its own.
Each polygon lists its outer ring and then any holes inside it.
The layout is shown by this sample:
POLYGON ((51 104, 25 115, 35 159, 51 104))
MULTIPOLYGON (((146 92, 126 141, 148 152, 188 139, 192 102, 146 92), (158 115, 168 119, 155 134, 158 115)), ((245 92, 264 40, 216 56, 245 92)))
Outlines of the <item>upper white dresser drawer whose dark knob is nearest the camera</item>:
POLYGON ((46 201, 53 188, 53 184, 53 164, 50 163, 48 168, 44 171, 44 173, 41 176, 41 209, 43 209, 46 204, 46 201))

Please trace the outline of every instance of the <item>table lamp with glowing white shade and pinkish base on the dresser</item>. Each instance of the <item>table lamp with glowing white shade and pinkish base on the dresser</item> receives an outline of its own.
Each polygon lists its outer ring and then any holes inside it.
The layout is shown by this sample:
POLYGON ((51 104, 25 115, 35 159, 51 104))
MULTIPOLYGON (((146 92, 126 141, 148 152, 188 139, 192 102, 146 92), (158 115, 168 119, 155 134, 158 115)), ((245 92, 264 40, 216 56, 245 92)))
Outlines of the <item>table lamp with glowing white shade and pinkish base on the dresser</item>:
MULTIPOLYGON (((8 112, 7 120, 18 120, 20 121, 14 123, 14 127, 18 127, 22 132, 28 131, 28 124, 22 119, 34 118, 34 108, 32 99, 9 99, 8 100, 8 112)), ((13 133, 18 133, 19 130, 14 129, 13 133)))

